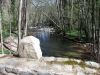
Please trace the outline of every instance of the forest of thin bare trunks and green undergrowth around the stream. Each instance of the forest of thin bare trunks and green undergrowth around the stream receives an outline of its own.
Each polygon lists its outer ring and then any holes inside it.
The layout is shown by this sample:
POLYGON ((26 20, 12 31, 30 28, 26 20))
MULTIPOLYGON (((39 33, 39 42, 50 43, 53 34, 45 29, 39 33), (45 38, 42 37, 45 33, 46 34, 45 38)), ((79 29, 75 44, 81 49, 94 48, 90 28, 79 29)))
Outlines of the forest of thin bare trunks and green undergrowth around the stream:
POLYGON ((21 38, 28 27, 50 25, 78 43, 89 43, 100 62, 100 0, 0 0, 0 37, 21 38))

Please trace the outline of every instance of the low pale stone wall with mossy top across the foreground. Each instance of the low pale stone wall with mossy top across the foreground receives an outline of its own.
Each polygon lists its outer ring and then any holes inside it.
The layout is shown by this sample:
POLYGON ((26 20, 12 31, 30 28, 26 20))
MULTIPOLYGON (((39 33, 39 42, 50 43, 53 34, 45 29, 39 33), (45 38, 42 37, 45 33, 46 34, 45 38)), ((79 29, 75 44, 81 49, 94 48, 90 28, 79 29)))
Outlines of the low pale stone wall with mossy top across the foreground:
POLYGON ((100 64, 68 58, 0 55, 0 75, 100 75, 100 64))

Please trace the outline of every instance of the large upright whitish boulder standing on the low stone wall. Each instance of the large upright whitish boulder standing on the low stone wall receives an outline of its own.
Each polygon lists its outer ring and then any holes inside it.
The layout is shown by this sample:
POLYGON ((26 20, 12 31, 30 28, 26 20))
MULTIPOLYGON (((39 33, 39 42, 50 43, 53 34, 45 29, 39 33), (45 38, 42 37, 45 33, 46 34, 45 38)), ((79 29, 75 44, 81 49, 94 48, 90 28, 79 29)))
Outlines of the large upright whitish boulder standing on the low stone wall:
POLYGON ((40 41, 34 36, 27 36, 19 42, 19 56, 22 58, 40 59, 42 52, 40 41))

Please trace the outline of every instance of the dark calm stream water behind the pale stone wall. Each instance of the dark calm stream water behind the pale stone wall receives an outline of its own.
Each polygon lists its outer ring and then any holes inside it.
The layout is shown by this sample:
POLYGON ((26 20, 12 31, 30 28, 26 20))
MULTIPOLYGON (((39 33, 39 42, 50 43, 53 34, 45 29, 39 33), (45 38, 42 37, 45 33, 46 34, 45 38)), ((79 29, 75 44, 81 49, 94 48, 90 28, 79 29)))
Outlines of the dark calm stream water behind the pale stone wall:
POLYGON ((82 53, 82 49, 75 42, 51 33, 34 33, 40 40, 43 56, 69 57, 83 60, 93 60, 90 54, 82 53))

